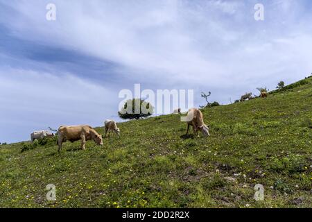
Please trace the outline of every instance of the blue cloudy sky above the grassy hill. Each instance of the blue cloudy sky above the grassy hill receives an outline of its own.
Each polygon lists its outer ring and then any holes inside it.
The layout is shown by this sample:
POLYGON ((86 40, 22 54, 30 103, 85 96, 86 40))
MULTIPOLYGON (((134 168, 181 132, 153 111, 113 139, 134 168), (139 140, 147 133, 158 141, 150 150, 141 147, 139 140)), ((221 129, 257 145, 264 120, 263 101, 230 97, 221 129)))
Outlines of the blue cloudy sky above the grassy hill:
POLYGON ((309 0, 0 0, 0 142, 116 119, 121 89, 223 104, 312 72, 309 0), (46 19, 46 5, 56 20, 46 19), (264 6, 264 21, 254 6, 264 6))

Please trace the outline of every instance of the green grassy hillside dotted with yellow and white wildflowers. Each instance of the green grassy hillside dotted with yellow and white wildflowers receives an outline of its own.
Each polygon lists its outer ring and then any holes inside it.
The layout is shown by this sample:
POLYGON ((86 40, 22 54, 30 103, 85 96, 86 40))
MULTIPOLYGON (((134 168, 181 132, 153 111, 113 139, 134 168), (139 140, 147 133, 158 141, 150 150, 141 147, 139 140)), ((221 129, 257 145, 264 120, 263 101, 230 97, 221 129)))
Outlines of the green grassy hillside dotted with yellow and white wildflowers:
POLYGON ((0 207, 312 207, 312 78, 304 82, 202 110, 209 138, 185 136, 171 114, 121 123, 120 138, 85 151, 0 146, 0 207), (258 183, 264 201, 254 200, 258 183))

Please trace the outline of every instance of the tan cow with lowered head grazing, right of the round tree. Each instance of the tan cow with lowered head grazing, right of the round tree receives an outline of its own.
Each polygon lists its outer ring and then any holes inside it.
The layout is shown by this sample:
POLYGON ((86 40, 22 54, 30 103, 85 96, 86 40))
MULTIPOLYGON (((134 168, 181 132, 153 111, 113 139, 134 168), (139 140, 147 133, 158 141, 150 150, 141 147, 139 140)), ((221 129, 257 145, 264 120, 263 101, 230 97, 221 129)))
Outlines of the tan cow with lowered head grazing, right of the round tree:
POLYGON ((193 126, 194 135, 198 135, 198 130, 202 131, 202 134, 207 137, 209 134, 209 126, 206 126, 204 123, 204 119, 202 118, 202 112, 196 108, 192 108, 187 113, 187 117, 193 119, 187 122, 187 134, 189 133, 189 126, 193 126))

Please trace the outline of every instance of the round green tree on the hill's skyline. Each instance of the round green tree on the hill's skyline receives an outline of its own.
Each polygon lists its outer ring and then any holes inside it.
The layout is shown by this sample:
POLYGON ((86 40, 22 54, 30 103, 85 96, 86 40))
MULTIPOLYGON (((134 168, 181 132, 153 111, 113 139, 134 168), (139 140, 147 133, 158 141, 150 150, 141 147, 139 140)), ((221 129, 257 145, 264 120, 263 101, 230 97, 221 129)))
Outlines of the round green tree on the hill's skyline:
POLYGON ((154 107, 144 99, 129 99, 125 101, 118 114, 121 119, 140 119, 153 114, 154 107))

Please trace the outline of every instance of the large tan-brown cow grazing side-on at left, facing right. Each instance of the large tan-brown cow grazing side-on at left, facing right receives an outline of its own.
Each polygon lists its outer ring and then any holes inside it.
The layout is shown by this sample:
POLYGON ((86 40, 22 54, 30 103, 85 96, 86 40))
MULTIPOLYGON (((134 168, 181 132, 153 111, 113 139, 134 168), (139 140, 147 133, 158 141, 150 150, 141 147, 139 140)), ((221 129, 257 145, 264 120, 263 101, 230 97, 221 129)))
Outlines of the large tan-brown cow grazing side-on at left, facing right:
POLYGON ((78 140, 82 140, 81 148, 85 149, 85 142, 87 140, 94 140, 96 144, 103 146, 102 135, 99 135, 94 128, 87 125, 80 126, 60 126, 58 128, 58 152, 62 149, 62 143, 67 142, 75 142, 78 140))

